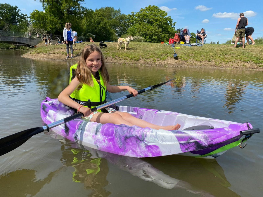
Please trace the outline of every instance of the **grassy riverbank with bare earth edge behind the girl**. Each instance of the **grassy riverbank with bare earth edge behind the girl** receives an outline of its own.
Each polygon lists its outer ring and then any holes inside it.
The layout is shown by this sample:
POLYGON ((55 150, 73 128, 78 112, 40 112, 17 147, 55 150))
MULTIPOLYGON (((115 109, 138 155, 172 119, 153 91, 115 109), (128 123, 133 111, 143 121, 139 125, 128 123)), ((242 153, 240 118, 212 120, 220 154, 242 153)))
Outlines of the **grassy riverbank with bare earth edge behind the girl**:
MULTIPOLYGON (((30 49, 23 57, 43 60, 72 61, 79 60, 82 48, 90 42, 77 43, 74 50, 74 58, 66 60, 65 45, 45 46, 44 42, 36 48, 30 49)), ((94 43, 99 46, 98 42, 94 43)), ((117 43, 107 43, 108 47, 102 52, 107 63, 139 64, 145 66, 169 66, 169 67, 213 67, 230 69, 255 69, 263 70, 263 45, 241 45, 231 48, 230 44, 205 44, 204 46, 182 46, 175 44, 175 52, 178 60, 175 60, 174 50, 171 45, 161 43, 129 43, 129 50, 117 50, 117 43)))

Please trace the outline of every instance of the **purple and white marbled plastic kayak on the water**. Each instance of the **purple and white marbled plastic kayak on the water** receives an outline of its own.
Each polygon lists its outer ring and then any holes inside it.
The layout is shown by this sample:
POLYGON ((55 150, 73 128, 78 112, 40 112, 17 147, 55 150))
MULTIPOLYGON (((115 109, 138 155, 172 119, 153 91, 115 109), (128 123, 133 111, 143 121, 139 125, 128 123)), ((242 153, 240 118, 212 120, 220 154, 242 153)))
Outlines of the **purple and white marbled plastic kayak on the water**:
MULTIPOLYGON (((76 118, 58 125, 52 130, 71 141, 100 151, 130 157, 156 157, 186 155, 216 158, 230 148, 240 146, 259 129, 250 123, 236 123, 204 118, 172 111, 118 106, 119 111, 128 112, 157 125, 181 124, 179 130, 155 130, 138 126, 101 124, 76 118)), ((75 112, 72 108, 47 97, 41 103, 41 118, 46 124, 53 123, 75 112)))

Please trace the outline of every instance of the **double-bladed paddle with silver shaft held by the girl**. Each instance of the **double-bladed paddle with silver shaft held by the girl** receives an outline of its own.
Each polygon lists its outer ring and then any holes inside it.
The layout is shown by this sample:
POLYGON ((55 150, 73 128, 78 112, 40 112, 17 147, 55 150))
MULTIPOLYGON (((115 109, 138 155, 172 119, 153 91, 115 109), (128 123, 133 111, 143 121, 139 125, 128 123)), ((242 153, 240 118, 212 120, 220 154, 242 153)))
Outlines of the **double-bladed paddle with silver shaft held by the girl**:
MULTIPOLYGON (((157 85, 154 85, 154 86, 149 86, 147 88, 139 90, 138 94, 141 94, 141 93, 143 93, 143 92, 145 92, 147 90, 153 90, 154 88, 162 86, 163 84, 168 83, 169 81, 172 81, 174 79, 170 79, 170 80, 168 80, 168 81, 166 81, 164 83, 160 83, 160 84, 157 84, 157 85)), ((112 100, 110 102, 106 102, 106 103, 104 103, 102 105, 99 105, 97 107, 93 107, 91 109, 91 111, 96 111, 98 109, 102 109, 104 107, 108 107, 110 105, 113 105, 113 104, 115 104, 117 102, 123 101, 123 100, 125 100, 127 98, 130 98, 130 97, 133 97, 133 96, 134 96, 133 94, 128 94, 126 96, 120 97, 120 98, 112 100)), ((14 149, 16 149, 19 146, 21 146, 22 144, 24 144, 33 135, 36 135, 36 134, 41 133, 43 131, 49 131, 49 129, 51 129, 53 127, 56 127, 56 126, 61 125, 61 124, 64 124, 66 122, 74 120, 75 118, 79 118, 79 117, 81 117, 83 115, 84 114, 82 114, 82 113, 74 114, 72 116, 63 118, 62 120, 50 123, 48 125, 45 124, 42 127, 35 127, 35 128, 23 130, 23 131, 20 131, 18 133, 14 133, 12 135, 8 135, 6 137, 3 137, 3 138, 0 139, 0 156, 4 155, 4 154, 6 154, 6 153, 8 153, 8 152, 10 152, 10 151, 12 151, 14 149)))

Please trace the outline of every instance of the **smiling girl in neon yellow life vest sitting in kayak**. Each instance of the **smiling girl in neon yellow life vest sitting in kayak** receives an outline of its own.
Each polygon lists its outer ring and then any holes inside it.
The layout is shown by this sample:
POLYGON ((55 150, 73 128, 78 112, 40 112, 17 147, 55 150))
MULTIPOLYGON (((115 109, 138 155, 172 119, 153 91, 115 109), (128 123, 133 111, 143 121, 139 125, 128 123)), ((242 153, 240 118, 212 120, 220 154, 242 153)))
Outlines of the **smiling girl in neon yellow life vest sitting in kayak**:
POLYGON ((68 87, 58 95, 58 101, 82 112, 85 118, 90 121, 164 130, 177 130, 180 128, 179 124, 159 126, 148 123, 127 112, 116 111, 110 107, 105 108, 106 113, 101 112, 101 110, 91 112, 90 108, 105 103, 106 90, 111 93, 128 90, 130 94, 138 95, 137 90, 129 86, 111 86, 109 84, 110 78, 104 57, 101 50, 95 45, 91 44, 83 48, 75 69, 75 76, 68 87))

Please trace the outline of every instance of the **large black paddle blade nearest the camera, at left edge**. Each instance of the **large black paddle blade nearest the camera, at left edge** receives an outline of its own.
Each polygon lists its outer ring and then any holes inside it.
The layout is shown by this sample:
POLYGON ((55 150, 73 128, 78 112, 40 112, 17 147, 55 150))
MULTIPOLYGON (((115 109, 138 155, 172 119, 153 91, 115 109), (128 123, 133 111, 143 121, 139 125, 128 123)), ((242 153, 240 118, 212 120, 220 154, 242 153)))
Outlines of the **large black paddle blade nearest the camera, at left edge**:
POLYGON ((42 127, 31 128, 27 130, 8 135, 0 139, 0 156, 4 155, 24 144, 30 137, 44 131, 42 127))

